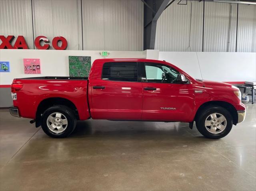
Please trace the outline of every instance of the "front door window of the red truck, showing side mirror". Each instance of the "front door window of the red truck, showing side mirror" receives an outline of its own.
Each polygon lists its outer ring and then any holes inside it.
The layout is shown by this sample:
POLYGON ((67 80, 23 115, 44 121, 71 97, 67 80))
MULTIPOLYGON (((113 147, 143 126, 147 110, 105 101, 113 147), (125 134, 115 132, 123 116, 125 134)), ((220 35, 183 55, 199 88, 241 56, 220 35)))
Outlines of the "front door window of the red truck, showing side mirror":
POLYGON ((176 83, 179 72, 168 65, 145 63, 147 82, 176 83))

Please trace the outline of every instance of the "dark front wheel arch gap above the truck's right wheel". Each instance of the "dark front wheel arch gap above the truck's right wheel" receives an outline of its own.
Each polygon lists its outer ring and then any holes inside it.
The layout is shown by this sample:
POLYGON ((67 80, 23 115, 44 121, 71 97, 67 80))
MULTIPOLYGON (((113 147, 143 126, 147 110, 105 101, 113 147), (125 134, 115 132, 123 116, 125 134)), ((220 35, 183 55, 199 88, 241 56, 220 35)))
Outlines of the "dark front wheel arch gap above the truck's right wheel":
POLYGON ((225 101, 208 101, 208 102, 204 102, 196 111, 196 115, 194 117, 194 120, 196 120, 200 114, 200 112, 206 107, 206 106, 221 106, 223 108, 225 108, 226 110, 228 110, 232 116, 233 119, 233 124, 236 125, 238 122, 238 114, 237 114, 237 110, 236 108, 230 104, 229 102, 225 102, 225 101))

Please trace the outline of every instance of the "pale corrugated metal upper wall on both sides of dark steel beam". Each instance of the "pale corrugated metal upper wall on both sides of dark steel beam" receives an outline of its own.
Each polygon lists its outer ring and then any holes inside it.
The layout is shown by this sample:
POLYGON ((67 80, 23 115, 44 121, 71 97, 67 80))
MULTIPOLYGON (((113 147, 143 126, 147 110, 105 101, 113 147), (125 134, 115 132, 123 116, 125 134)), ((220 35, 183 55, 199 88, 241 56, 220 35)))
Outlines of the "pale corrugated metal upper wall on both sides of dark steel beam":
MULTIPOLYGON (((158 19, 155 49, 202 51, 203 1, 177 3, 158 19)), ((82 4, 81 0, 0 0, 0 35, 24 35, 33 49, 34 28, 34 37, 45 35, 52 41, 64 36, 68 50, 83 46, 84 50, 141 51, 143 7, 141 0, 82 0, 82 4)), ((236 47, 236 8, 233 4, 231 52, 236 47)), ((229 11, 230 4, 205 2, 204 51, 227 51, 229 11)), ((239 5, 237 51, 256 52, 254 5, 239 5)))

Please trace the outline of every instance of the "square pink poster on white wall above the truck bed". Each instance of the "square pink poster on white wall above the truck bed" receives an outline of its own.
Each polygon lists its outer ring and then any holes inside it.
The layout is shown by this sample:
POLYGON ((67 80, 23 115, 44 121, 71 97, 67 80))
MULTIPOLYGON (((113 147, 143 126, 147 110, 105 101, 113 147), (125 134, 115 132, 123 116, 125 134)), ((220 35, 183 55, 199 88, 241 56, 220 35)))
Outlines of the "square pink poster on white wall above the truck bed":
POLYGON ((24 58, 24 73, 25 74, 40 74, 40 59, 38 58, 24 58))

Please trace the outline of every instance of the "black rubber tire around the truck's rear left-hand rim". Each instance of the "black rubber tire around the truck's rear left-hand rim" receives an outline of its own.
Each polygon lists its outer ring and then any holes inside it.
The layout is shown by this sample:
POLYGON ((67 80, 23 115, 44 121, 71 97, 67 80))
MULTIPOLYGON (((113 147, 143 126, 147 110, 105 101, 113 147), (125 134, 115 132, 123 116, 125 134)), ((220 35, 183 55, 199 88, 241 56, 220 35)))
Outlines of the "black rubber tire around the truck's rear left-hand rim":
POLYGON ((74 114, 74 111, 72 109, 70 109, 69 107, 64 106, 64 105, 54 105, 44 111, 44 113, 42 115, 42 125, 41 126, 42 126, 42 129, 44 130, 44 132, 48 136, 50 136, 52 138, 64 138, 64 137, 69 136, 76 128, 76 116, 74 114), (68 124, 65 126, 66 129, 63 132, 52 132, 48 128, 47 118, 55 112, 63 114, 68 121, 68 124))

